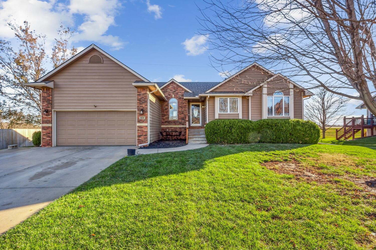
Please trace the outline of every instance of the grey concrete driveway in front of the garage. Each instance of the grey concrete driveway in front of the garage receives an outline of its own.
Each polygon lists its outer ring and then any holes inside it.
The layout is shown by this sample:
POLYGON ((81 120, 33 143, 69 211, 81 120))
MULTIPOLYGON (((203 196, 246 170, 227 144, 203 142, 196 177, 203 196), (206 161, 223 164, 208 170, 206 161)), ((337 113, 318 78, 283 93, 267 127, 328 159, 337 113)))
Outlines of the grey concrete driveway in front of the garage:
POLYGON ((135 146, 0 150, 0 234, 70 192, 135 146))

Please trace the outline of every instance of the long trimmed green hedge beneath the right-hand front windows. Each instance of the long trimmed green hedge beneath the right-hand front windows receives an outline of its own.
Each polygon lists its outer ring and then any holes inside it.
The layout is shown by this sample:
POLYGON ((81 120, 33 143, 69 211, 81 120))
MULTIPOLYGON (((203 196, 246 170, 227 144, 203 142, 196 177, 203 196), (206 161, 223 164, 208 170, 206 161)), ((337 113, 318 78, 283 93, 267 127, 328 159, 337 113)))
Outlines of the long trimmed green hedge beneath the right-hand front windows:
POLYGON ((213 120, 205 126, 208 143, 294 143, 317 144, 320 128, 300 119, 213 120))

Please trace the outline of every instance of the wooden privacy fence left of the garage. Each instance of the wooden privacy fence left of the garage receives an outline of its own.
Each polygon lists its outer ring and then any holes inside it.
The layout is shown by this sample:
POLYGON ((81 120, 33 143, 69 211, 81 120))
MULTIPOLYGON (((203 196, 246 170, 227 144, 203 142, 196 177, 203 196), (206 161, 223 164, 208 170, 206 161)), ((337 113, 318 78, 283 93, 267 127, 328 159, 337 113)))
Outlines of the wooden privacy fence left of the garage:
POLYGON ((18 147, 33 146, 32 135, 40 129, 0 129, 0 149, 17 144, 18 147))

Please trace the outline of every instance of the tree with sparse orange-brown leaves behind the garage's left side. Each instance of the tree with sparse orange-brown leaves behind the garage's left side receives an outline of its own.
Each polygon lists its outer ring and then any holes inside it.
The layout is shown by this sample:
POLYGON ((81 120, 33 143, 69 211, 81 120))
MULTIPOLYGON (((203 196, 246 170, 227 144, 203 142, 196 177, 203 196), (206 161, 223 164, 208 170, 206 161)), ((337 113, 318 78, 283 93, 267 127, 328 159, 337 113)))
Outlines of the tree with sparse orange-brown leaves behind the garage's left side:
MULTIPOLYGON (((0 40, 0 96, 12 108, 22 108, 34 114, 36 119, 41 112, 41 92, 22 84, 38 80, 47 71, 49 57, 45 53, 45 35, 36 34, 27 21, 24 21, 23 26, 13 23, 8 23, 8 26, 14 31, 19 48, 14 49, 11 42, 0 40)), ((58 66, 77 52, 74 47, 70 51, 67 49, 73 31, 62 28, 58 32, 60 39, 55 39, 51 57, 53 66, 58 66)))

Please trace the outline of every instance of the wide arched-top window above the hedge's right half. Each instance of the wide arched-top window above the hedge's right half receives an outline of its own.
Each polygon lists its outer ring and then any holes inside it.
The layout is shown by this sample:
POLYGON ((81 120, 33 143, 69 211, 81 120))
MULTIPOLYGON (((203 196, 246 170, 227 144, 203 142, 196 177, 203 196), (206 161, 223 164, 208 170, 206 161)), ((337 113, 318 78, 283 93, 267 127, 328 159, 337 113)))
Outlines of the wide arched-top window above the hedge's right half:
POLYGON ((268 96, 268 116, 290 116, 290 96, 284 96, 281 91, 276 91, 273 96, 268 96))

